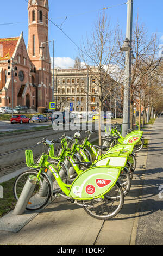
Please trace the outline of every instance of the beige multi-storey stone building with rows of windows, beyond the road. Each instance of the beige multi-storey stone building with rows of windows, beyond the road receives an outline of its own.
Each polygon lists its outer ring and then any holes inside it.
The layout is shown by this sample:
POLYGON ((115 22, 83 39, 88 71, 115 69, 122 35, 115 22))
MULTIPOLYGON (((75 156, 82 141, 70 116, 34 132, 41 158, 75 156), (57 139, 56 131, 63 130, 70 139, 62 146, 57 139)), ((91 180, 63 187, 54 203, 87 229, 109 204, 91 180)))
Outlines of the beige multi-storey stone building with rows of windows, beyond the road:
MULTIPOLYGON (((103 71, 104 72, 104 71, 103 71)), ((73 112, 86 112, 86 95, 88 96, 88 111, 99 113, 99 86, 98 86, 98 69, 93 67, 91 72, 87 73, 87 69, 54 69, 54 101, 57 102, 58 109, 61 111, 69 110, 70 103, 73 103, 73 112), (88 78, 88 84, 87 84, 88 78)), ((108 81, 108 87, 111 83, 115 83, 111 78, 108 81)), ((118 86, 117 86, 118 87, 118 86)), ((106 92, 104 92, 105 94, 106 92)), ((114 90, 112 91, 112 96, 114 90)), ((120 96, 121 97, 121 96, 120 96)), ((117 100, 117 105, 119 101, 117 100)), ((103 111, 115 110, 115 100, 110 95, 106 98, 103 111)))

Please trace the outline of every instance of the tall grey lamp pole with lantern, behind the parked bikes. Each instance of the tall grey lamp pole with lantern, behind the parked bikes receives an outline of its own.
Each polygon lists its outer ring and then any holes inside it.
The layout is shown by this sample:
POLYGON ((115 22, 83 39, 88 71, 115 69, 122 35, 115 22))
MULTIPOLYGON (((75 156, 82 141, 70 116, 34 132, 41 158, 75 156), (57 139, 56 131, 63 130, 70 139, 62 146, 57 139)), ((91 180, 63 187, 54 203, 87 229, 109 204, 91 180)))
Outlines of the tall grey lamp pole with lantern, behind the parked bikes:
POLYGON ((122 136, 125 137, 128 129, 130 129, 130 83, 131 83, 131 48, 132 48, 132 33, 133 33, 133 0, 127 2, 127 28, 126 40, 121 48, 121 51, 126 51, 125 60, 125 86, 124 86, 124 101, 123 101, 123 123, 122 136))

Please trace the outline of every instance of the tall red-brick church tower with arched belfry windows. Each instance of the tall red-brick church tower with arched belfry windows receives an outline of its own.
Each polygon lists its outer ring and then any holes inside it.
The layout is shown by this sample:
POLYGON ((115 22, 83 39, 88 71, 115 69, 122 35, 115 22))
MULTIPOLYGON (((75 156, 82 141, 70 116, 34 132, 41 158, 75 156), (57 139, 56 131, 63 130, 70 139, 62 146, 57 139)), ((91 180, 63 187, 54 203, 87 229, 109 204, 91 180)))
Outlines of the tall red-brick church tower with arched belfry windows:
POLYGON ((49 108, 52 101, 51 57, 48 44, 48 0, 30 0, 28 3, 28 47, 31 63, 31 81, 37 90, 36 107, 49 108), (47 42, 47 43, 45 43, 47 42))

